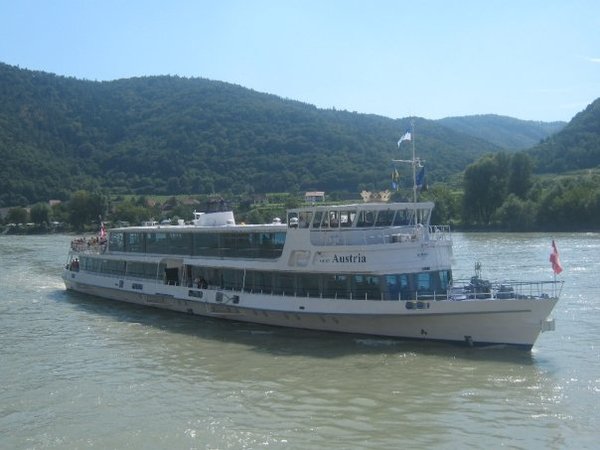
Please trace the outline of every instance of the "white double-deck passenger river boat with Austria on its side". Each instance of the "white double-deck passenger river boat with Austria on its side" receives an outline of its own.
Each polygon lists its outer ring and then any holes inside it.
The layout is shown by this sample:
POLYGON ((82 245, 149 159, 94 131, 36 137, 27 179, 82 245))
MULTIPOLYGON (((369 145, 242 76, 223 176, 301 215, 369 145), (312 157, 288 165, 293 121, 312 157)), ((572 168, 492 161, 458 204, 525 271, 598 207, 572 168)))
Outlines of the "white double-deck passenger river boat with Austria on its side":
MULTIPOLYGON (((415 167, 420 162, 414 158, 415 167)), ((416 179, 416 176, 414 176, 416 179)), ((310 204, 237 224, 222 203, 190 223, 72 242, 68 290, 271 326, 531 349, 553 330, 562 281, 465 281, 434 204, 310 204)))

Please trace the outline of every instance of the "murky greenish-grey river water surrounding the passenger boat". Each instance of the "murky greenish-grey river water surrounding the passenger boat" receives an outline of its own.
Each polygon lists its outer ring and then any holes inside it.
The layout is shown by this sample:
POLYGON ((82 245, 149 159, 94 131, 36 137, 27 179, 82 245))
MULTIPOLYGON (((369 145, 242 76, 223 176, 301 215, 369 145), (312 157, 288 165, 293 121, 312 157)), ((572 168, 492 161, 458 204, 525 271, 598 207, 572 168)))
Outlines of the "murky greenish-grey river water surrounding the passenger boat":
POLYGON ((268 328, 67 293, 0 236, 0 448, 598 448, 600 234, 455 233, 455 278, 552 279, 531 352, 268 328))

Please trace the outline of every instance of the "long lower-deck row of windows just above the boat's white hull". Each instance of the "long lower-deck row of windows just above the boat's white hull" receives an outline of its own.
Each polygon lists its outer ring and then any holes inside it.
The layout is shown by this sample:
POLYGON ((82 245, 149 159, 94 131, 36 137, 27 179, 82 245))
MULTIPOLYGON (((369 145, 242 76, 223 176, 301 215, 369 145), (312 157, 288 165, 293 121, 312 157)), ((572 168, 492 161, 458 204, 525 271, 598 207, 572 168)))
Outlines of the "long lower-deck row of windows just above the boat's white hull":
POLYGON ((450 271, 416 274, 314 274, 267 272, 114 261, 82 257, 81 267, 91 272, 159 280, 189 287, 211 287, 274 295, 368 300, 409 300, 442 295, 450 282, 450 271))

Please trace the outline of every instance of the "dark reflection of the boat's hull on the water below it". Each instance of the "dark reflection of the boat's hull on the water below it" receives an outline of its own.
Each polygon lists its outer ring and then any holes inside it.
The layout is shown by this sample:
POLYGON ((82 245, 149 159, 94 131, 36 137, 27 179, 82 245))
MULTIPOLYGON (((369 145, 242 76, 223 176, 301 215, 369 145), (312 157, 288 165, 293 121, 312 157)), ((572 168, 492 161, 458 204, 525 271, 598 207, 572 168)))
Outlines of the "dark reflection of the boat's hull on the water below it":
POLYGON ((502 345, 470 348, 452 343, 421 342, 272 327, 210 317, 189 316, 182 313, 107 301, 71 291, 65 292, 64 295, 73 305, 90 314, 161 329, 201 341, 229 341, 256 352, 276 356, 298 355, 313 358, 336 358, 357 353, 414 353, 423 356, 443 356, 473 361, 487 359, 510 364, 533 364, 534 362, 532 353, 502 345))

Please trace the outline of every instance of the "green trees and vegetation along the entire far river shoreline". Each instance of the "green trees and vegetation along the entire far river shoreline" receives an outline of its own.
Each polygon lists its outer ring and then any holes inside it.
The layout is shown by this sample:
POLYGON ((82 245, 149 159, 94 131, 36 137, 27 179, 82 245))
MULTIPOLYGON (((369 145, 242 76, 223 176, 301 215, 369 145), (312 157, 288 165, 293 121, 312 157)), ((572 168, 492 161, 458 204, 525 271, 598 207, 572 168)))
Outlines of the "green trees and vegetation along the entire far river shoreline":
MULTIPOLYGON (((600 170, 552 177, 524 175, 527 170, 496 154, 471 164, 463 186, 436 184, 419 192, 419 201, 433 201, 432 224, 471 232, 595 232, 600 231, 600 170), (513 168, 511 169, 511 164, 513 168), (494 170, 490 166, 495 166, 494 170), (519 172, 518 180, 512 175, 519 172), (499 176, 498 174, 504 174, 499 176), (523 177, 527 180, 523 183, 523 177)), ((529 165, 527 159, 523 160, 529 165)), ((410 201, 408 190, 392 192, 390 201, 410 201)), ((237 223, 270 223, 286 210, 306 204, 303 194, 239 194, 135 196, 80 190, 64 202, 4 208, 0 234, 97 233, 107 227, 139 225, 144 221, 177 224, 189 221, 194 210, 223 200, 237 223)), ((332 192, 323 204, 361 203, 358 195, 332 192)))

